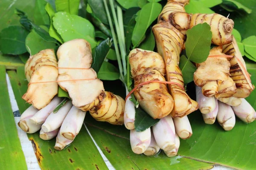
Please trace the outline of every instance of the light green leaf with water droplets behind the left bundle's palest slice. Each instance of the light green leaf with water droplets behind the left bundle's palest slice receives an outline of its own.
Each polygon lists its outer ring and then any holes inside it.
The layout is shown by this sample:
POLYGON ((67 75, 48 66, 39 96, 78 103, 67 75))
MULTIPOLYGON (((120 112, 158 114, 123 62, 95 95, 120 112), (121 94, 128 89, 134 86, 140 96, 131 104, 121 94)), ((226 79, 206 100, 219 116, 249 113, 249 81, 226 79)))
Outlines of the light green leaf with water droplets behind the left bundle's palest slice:
POLYGON ((52 20, 64 42, 82 38, 90 43, 91 48, 96 46, 94 27, 90 21, 67 12, 57 12, 52 20))

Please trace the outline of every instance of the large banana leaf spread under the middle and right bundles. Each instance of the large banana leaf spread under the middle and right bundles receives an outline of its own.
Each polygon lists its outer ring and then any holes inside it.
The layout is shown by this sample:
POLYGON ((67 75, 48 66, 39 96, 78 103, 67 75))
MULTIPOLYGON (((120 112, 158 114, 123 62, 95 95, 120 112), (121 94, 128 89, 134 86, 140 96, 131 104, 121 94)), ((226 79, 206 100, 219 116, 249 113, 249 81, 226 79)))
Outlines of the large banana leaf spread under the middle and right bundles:
MULTIPOLYGON (((246 60, 246 63, 247 71, 252 75, 251 80, 255 85, 256 63, 249 60, 246 60)), ((195 99, 195 87, 191 84, 187 89, 190 93, 189 96, 195 99)), ((116 91, 113 87, 106 90, 116 91)), ((253 91, 247 97, 247 101, 250 102, 254 109, 256 109, 255 99, 256 91, 253 91)), ((204 169, 212 166, 212 164, 247 170, 255 168, 256 161, 253 160, 256 157, 256 152, 254 151, 256 149, 256 122, 245 124, 237 119, 233 130, 227 132, 218 125, 217 121, 214 125, 205 124, 200 111, 190 114, 189 120, 192 125, 193 135, 190 139, 181 139, 180 141, 178 155, 184 161, 180 161, 177 165, 181 169, 189 169, 189 165, 191 169, 204 169), (202 164, 202 162, 209 162, 211 164, 202 164)), ((166 160, 168 158, 164 154, 160 154, 162 156, 161 159, 159 159, 159 155, 157 158, 153 157, 154 159, 151 159, 144 155, 137 156, 132 153, 128 140, 129 130, 126 130, 125 127, 116 127, 104 122, 96 122, 90 116, 88 117, 88 115, 85 121, 94 140, 116 169, 120 169, 123 166, 134 168, 134 164, 135 169, 137 167, 140 169, 152 169, 158 166, 163 167, 163 169, 175 169, 176 165, 168 162, 166 160), (122 164, 122 161, 125 161, 125 165, 122 164), (144 164, 144 162, 146 163, 144 164)), ((170 161, 174 160, 170 159, 170 161)))

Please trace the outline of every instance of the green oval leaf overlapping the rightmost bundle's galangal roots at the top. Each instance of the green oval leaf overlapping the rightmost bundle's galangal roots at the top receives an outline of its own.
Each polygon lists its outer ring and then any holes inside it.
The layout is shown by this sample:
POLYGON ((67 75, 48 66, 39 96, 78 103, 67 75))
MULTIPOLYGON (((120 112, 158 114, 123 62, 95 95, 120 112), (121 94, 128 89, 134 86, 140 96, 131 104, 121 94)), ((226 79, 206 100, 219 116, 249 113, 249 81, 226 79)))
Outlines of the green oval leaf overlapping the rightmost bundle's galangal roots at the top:
POLYGON ((210 51, 212 32, 207 23, 198 24, 187 32, 186 55, 196 63, 204 62, 210 51))

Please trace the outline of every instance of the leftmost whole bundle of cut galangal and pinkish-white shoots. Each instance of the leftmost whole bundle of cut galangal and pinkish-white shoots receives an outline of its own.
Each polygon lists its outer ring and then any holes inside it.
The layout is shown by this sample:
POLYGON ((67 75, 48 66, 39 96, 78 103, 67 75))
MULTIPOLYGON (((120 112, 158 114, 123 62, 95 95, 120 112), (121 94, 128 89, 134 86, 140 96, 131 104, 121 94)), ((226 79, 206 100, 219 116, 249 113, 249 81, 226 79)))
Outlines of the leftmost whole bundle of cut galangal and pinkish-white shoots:
POLYGON ((26 133, 40 130, 40 137, 56 137, 55 149, 62 150, 79 133, 86 111, 98 121, 123 125, 125 101, 105 91, 91 67, 90 44, 83 39, 70 40, 57 51, 46 49, 31 56, 25 65, 28 90, 23 95, 32 104, 18 125, 26 133), (70 99, 58 96, 58 85, 70 99))

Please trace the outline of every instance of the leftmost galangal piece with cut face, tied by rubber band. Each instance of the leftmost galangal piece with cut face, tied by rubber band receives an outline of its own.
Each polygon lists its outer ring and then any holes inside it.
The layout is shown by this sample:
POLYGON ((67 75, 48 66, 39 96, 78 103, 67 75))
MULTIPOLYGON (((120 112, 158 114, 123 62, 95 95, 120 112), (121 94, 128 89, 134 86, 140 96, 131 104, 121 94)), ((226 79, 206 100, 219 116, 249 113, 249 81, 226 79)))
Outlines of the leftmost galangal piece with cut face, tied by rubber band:
POLYGON ((58 84, 54 82, 58 77, 56 67, 57 59, 52 49, 40 51, 28 59, 25 74, 29 85, 26 94, 22 96, 26 102, 37 109, 44 108, 51 102, 58 93, 58 84))

